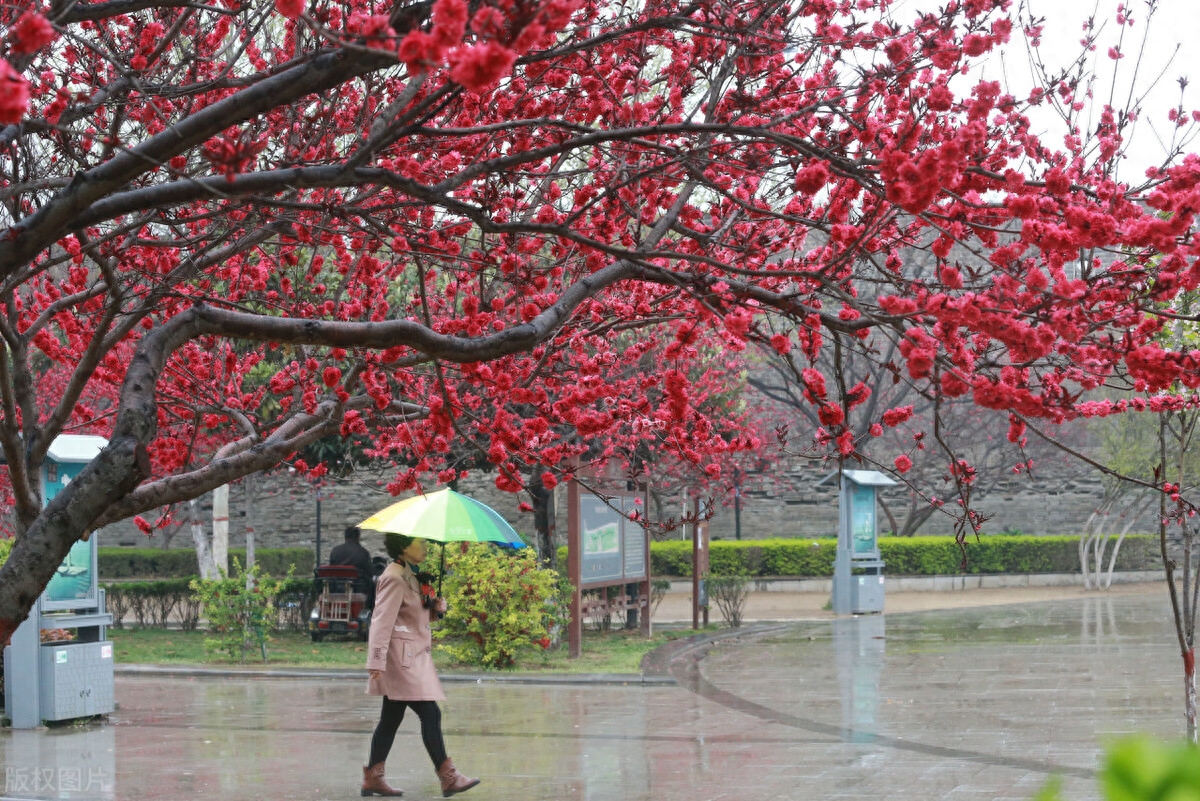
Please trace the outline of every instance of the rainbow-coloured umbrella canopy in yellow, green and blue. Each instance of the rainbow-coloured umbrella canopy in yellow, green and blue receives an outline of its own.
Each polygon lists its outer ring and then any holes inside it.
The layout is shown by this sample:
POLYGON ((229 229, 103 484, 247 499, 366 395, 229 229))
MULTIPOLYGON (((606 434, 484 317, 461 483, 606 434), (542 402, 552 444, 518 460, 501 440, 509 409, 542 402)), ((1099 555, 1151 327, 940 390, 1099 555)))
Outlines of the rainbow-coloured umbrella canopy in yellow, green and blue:
POLYGON ((521 535, 496 510, 449 488, 397 501, 359 523, 359 528, 434 542, 526 547, 521 535))

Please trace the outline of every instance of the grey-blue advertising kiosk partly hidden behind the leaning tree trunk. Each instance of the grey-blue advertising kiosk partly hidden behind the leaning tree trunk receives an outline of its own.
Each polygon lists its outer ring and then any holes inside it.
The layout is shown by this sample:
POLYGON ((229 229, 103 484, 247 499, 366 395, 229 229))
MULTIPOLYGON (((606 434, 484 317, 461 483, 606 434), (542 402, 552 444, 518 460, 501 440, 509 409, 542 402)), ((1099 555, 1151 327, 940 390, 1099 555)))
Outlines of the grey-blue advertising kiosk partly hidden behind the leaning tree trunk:
MULTIPOLYGON (((103 436, 55 438, 42 466, 49 502, 108 444, 103 436)), ((4 651, 6 715, 16 729, 43 722, 106 715, 114 709, 113 644, 97 582, 96 535, 74 543, 29 618, 4 651), (66 630, 70 640, 42 642, 42 632, 66 630)))

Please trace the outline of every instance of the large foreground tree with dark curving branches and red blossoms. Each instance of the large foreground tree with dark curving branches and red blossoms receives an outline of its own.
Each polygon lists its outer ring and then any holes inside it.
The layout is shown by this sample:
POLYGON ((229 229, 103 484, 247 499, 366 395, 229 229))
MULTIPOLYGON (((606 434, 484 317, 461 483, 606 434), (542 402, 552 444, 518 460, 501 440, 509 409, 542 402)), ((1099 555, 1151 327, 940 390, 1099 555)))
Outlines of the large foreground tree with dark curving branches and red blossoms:
MULTIPOLYGON (((1120 182, 1128 109, 1073 73, 1028 96, 972 78, 1013 35, 1007 0, 888 5, 0 10, 19 532, 0 638, 89 531, 331 433, 403 462, 395 492, 452 480, 462 440, 510 489, 518 463, 569 474, 617 429, 725 454, 694 439, 688 349, 698 330, 740 348, 768 311, 796 324, 774 347, 811 362, 832 333, 889 338, 910 380, 1009 411, 1016 440, 1114 410, 1087 402, 1105 383, 1195 389, 1200 353, 1154 335, 1200 283, 1200 158, 1120 182), (1034 133, 1037 108, 1066 140, 1034 133), (936 270, 906 270, 910 246, 936 270), (605 392, 644 353, 607 343, 640 329, 660 363, 605 392), (66 430, 109 445, 42 508, 66 430)), ((844 423, 827 433, 853 454, 844 423)))

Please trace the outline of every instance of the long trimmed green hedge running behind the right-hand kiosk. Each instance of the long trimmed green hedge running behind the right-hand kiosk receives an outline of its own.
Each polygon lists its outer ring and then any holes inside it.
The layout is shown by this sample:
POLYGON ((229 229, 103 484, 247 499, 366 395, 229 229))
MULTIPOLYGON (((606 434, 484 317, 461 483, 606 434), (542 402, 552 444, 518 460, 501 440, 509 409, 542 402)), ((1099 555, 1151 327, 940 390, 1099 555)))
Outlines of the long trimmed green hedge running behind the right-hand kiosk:
MULTIPOLYGON (((744 573, 750 577, 833 576, 836 541, 821 540, 718 540, 708 562, 715 576, 744 573)), ((983 536, 968 540, 964 550, 953 537, 881 537, 880 556, 889 576, 954 576, 958 573, 1075 573, 1079 571, 1079 537, 1027 535, 983 536)), ((566 549, 559 549, 566 564, 566 549)), ((1117 570, 1158 570, 1162 559, 1158 537, 1130 535, 1121 543, 1117 570)), ((691 576, 691 542, 671 540, 650 543, 654 576, 691 576)))

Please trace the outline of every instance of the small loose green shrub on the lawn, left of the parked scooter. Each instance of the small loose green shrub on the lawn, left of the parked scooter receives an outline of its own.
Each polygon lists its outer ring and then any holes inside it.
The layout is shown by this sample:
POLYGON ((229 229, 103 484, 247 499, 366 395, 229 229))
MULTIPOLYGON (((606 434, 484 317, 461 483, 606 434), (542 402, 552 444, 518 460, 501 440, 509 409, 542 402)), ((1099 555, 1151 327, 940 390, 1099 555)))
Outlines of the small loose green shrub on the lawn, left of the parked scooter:
MULTIPOLYGON (((287 578, 292 578, 290 571, 287 578)), ((236 558, 232 576, 222 573, 218 579, 192 579, 192 591, 204 609, 208 631, 214 634, 204 640, 205 648, 242 664, 246 654, 256 649, 265 662, 268 632, 276 616, 275 596, 282 586, 283 582, 263 574, 260 564, 246 571, 236 558)))

